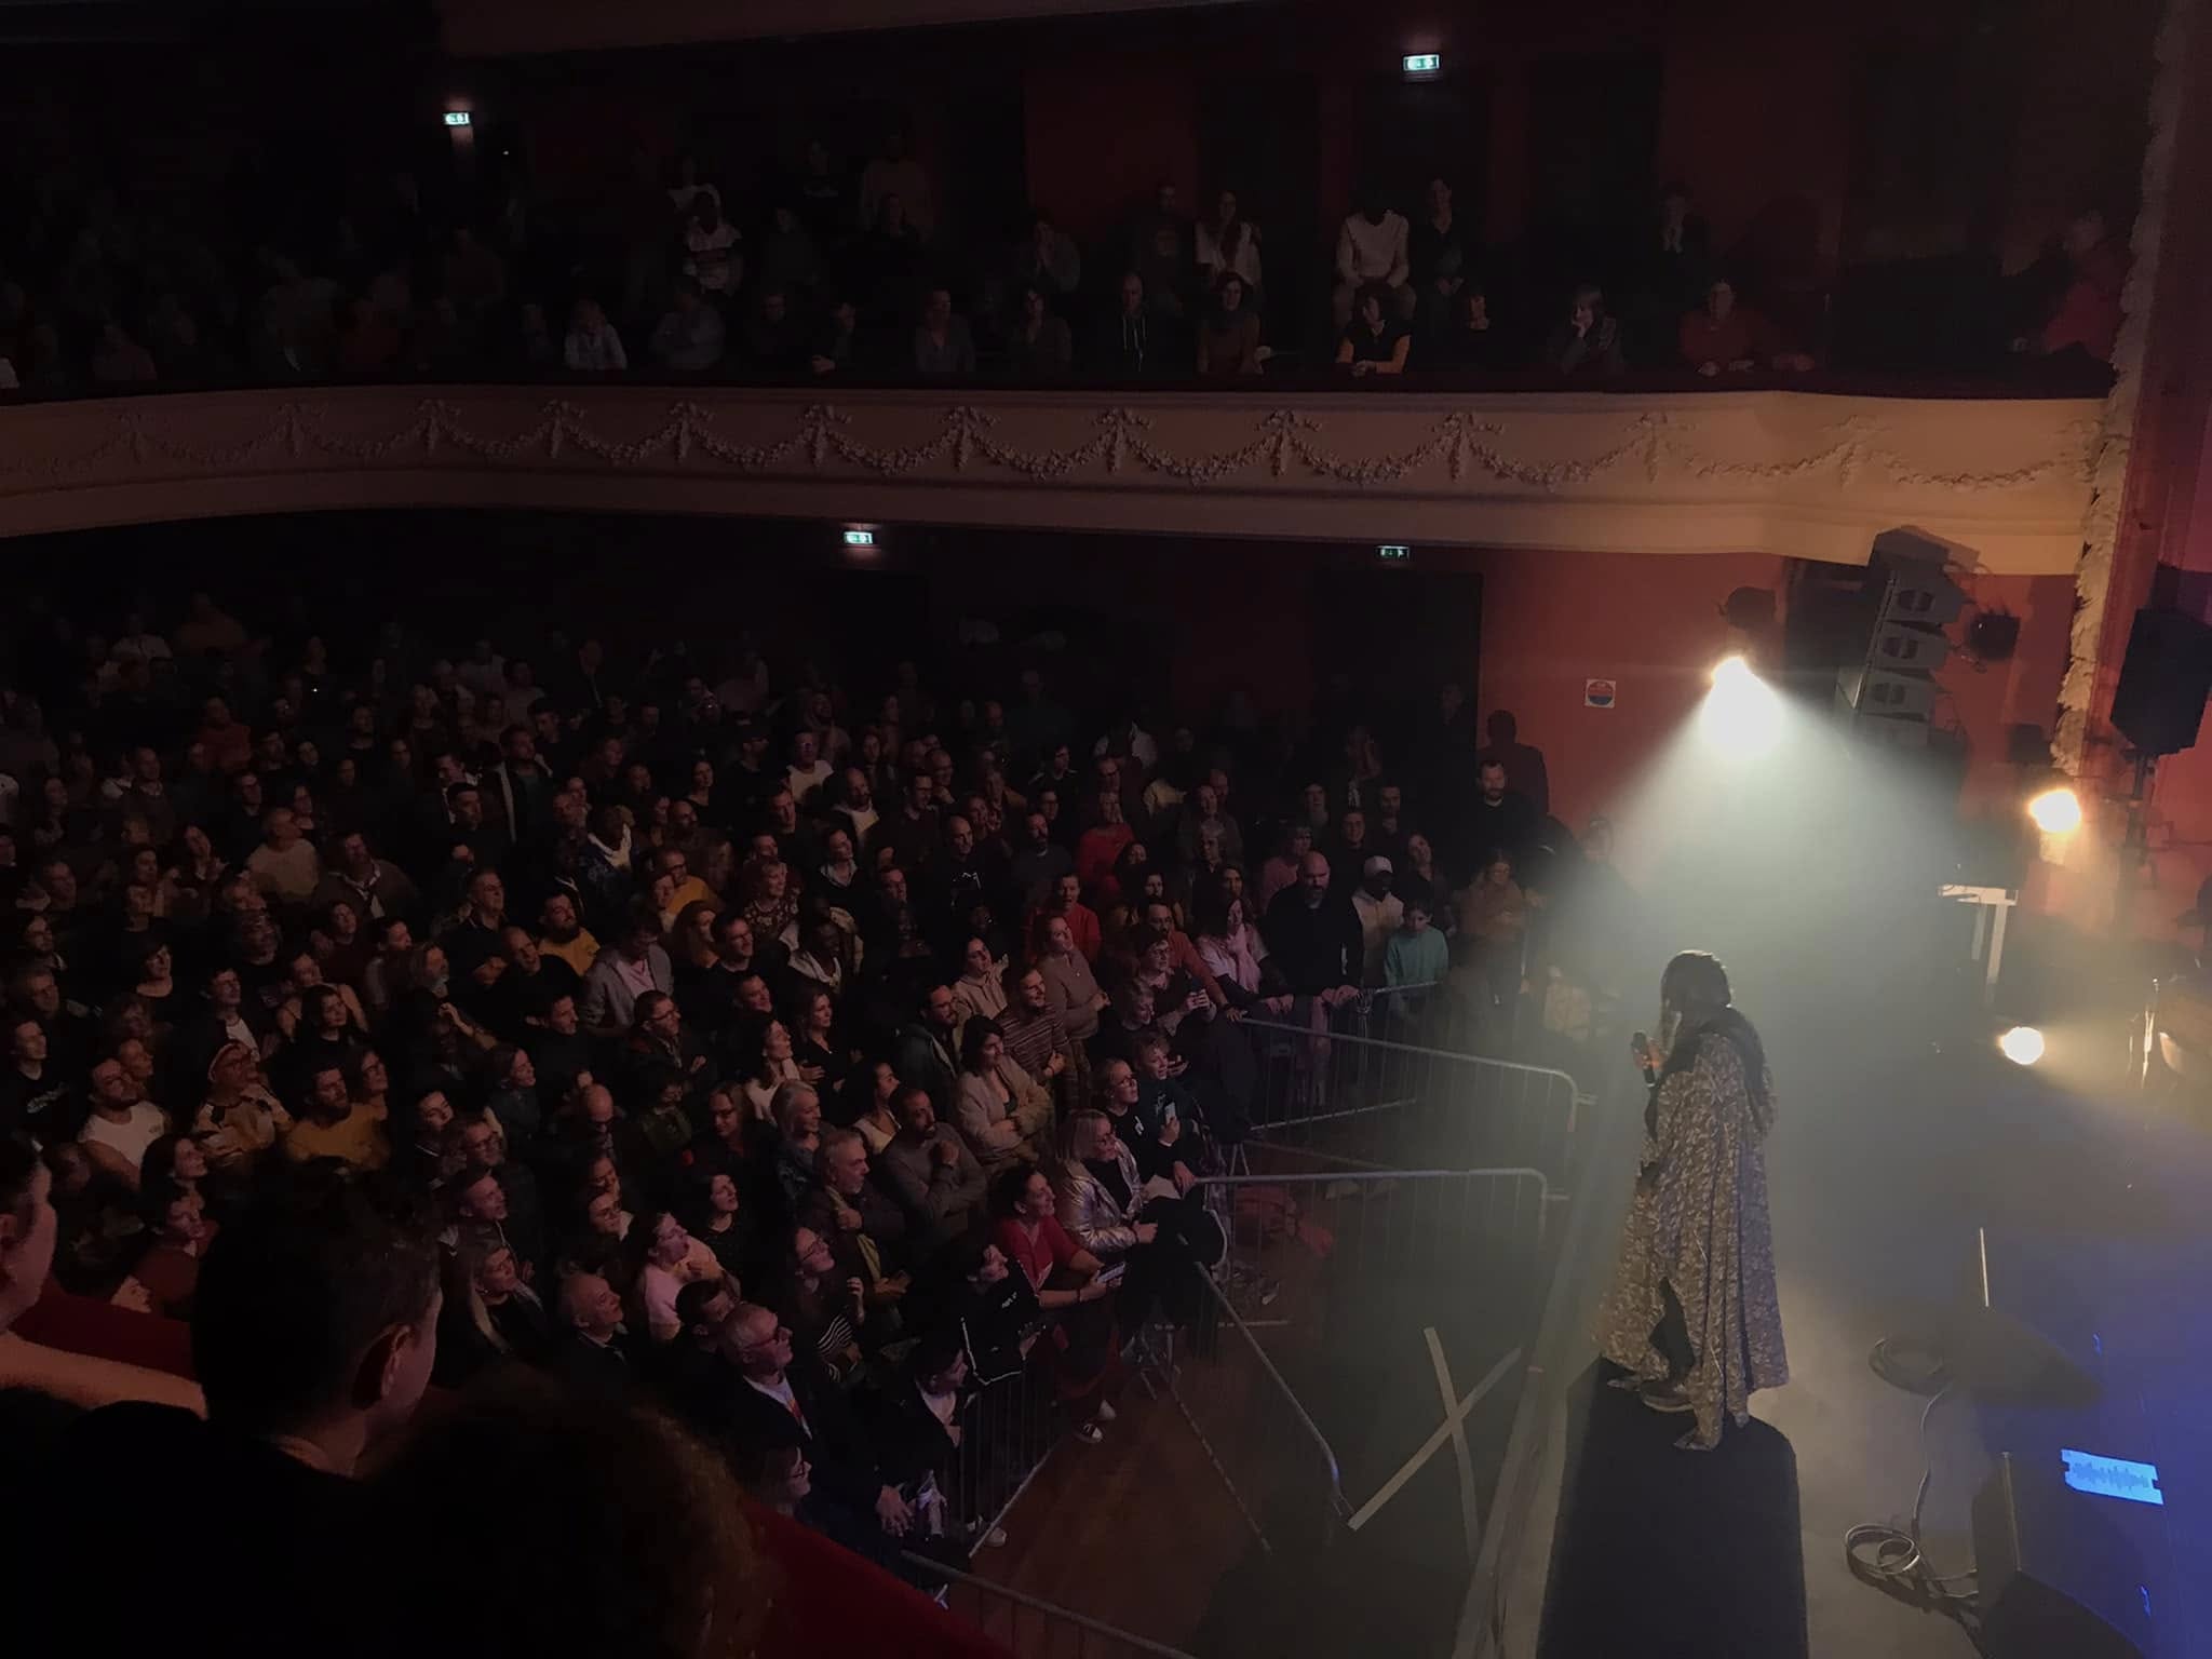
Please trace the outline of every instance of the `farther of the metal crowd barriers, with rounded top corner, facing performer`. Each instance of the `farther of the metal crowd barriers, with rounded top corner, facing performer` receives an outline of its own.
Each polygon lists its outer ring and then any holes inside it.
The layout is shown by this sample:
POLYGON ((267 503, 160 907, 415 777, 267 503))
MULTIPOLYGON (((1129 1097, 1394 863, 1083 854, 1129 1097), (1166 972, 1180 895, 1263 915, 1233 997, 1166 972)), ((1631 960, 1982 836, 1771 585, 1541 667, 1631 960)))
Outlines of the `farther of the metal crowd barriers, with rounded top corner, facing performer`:
MULTIPOLYGON (((1349 1004, 1347 1004, 1349 1006, 1349 1004)), ((1579 1126, 1575 1079, 1548 1066, 1338 1031, 1243 1020, 1252 1128, 1380 1168, 1535 1168, 1564 1190, 1579 1126)))

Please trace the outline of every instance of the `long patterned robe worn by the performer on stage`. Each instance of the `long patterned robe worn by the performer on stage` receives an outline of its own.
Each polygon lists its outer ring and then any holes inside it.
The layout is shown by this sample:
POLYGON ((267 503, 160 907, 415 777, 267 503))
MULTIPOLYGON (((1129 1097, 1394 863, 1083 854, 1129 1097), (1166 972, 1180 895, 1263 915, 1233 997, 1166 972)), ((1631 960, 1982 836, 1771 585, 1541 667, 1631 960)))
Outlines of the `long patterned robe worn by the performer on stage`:
POLYGON ((1661 1285, 1674 1290, 1694 1356, 1681 1387, 1697 1413, 1697 1429, 1677 1444, 1697 1451, 1721 1442, 1723 1413, 1741 1429, 1750 1396, 1790 1380, 1761 1152, 1774 1121, 1770 1071, 1761 1084, 1765 1110, 1752 1099, 1743 1051, 1717 1033, 1699 1042, 1694 1064, 1659 1084, 1599 1318, 1608 1360, 1635 1383, 1666 1383, 1652 1332, 1666 1312, 1661 1285))

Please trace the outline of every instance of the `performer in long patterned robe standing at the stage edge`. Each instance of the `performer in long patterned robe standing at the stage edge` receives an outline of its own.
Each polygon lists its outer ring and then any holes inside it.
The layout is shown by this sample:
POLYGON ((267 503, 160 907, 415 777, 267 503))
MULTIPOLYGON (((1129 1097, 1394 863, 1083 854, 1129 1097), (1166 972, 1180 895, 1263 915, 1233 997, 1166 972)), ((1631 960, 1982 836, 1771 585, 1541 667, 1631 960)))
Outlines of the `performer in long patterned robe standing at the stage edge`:
POLYGON ((1717 958, 1668 962, 1646 1064, 1659 1077, 1599 1345, 1630 1374, 1615 1387, 1655 1411, 1697 1416, 1674 1444, 1710 1451, 1723 1413, 1741 1429, 1750 1396, 1790 1380, 1761 1152, 1774 1075, 1717 958))

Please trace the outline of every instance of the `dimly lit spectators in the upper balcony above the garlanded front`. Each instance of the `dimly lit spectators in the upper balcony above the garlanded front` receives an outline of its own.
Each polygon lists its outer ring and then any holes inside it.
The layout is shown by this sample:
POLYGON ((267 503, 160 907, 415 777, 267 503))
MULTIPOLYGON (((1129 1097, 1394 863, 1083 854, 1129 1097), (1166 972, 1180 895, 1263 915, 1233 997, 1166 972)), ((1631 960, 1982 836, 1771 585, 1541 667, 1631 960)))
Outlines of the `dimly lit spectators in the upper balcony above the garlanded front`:
MULTIPOLYGON (((1272 246, 1234 186, 1190 210, 1161 184, 1121 232, 1091 246, 1048 206, 998 237, 958 237, 898 126, 858 168, 814 142, 794 170, 743 197, 712 175, 690 155, 666 170, 639 155, 588 223, 560 230, 507 175, 438 204, 400 173, 292 223, 93 179, 44 181, 0 215, 0 392, 538 376, 1234 380, 1270 363, 1537 383, 1626 367, 1728 378, 1812 369, 1827 327, 1803 292, 1756 307, 1770 283, 1756 268, 1730 270, 1683 184, 1551 292, 1509 274, 1511 257, 1484 246, 1449 177, 1431 177, 1418 201, 1363 190, 1327 263, 1272 246)), ((2110 361, 2124 274, 2101 215, 2081 215, 2013 283, 1993 343, 2110 361)))

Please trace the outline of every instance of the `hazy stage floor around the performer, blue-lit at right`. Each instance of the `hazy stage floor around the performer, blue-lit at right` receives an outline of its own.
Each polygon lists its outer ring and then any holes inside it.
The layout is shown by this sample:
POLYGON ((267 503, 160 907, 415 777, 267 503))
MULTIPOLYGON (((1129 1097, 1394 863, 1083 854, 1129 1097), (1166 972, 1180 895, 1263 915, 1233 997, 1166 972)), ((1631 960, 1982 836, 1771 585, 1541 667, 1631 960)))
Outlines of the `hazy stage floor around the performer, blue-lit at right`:
MULTIPOLYGON (((1781 1121, 1767 1148, 1792 1383, 1721 1453, 1668 1444, 1577 1363, 1511 1595, 1509 1652, 1971 1659, 1966 1632, 1851 1577, 1843 1535, 1902 1522, 1924 1398, 1869 1369, 1882 1336, 1931 1332, 1989 1228, 2002 1307, 2101 1383, 2079 1413, 1993 1411, 1953 1394, 1929 1422, 1924 1544, 1973 1564, 1969 1509, 1997 1451, 2057 1447, 2154 1462, 2163 1509, 2064 1493, 2137 1557, 2148 1659, 2212 1659, 2212 1128, 2201 1108, 2121 1088, 2095 1099, 1969 1055, 1805 1053, 1770 1031, 1781 1121), (1548 1548, 1546 1548, 1548 1540, 1548 1548), (1794 1548, 1790 1546, 1794 1542, 1794 1548)), ((1632 1135, 1601 1137, 1593 1201, 1626 1194, 1632 1135)), ((1621 1199, 1575 1285, 1588 1329, 1621 1199)), ((1584 1358, 1595 1354, 1584 1347, 1584 1358)))

